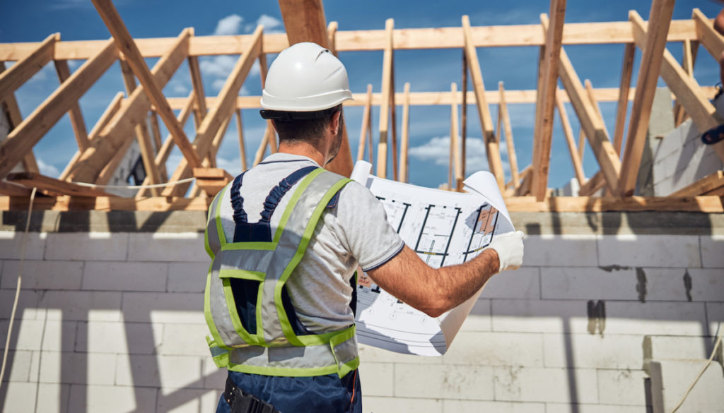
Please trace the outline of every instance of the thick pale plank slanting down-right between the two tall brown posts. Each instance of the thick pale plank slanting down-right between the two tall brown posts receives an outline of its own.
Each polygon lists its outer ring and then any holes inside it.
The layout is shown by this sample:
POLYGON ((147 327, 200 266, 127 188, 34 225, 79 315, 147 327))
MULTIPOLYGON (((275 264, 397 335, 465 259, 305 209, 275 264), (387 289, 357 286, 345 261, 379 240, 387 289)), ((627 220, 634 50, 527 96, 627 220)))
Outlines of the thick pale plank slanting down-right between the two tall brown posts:
POLYGON ((573 109, 586 133, 586 138, 596 156, 605 181, 609 187, 614 187, 618 183, 618 174, 621 169, 618 153, 608 139, 603 119, 591 104, 576 70, 573 69, 573 64, 563 48, 560 50, 559 71, 563 88, 571 98, 573 109))

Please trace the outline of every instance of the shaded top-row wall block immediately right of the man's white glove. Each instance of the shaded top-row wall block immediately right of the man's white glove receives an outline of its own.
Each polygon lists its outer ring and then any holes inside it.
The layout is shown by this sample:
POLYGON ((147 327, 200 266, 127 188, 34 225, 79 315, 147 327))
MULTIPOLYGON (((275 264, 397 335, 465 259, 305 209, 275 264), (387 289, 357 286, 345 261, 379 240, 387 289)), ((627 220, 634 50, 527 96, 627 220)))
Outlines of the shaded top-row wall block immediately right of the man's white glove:
POLYGON ((599 235, 527 235, 525 266, 586 267, 596 265, 599 235))

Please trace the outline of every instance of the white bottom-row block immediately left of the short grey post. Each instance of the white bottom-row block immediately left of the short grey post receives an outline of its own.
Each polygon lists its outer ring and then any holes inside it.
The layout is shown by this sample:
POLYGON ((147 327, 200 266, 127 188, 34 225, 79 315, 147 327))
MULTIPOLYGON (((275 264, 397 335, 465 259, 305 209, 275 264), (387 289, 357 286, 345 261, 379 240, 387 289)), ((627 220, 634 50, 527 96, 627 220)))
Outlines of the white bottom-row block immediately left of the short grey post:
POLYGON ((646 406, 642 370, 598 370, 598 395, 602 404, 646 406))

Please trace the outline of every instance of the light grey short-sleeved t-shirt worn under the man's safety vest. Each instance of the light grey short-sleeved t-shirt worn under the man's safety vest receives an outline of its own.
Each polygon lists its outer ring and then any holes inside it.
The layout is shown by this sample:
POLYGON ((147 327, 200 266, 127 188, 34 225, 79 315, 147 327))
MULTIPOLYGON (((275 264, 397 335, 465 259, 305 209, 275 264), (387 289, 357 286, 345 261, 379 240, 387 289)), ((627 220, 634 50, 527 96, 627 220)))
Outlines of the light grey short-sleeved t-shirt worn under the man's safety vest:
MULTIPOLYGON (((306 156, 274 153, 246 172, 240 189, 249 222, 256 222, 266 195, 279 181, 305 166, 319 166, 306 156)), ((271 234, 298 187, 282 197, 271 216, 271 234)), ((233 239, 234 219, 230 187, 221 201, 224 234, 233 239)), ((350 310, 350 278, 358 264, 364 271, 376 268, 397 255, 403 240, 387 222, 384 207, 357 182, 340 190, 337 205, 326 208, 306 253, 287 281, 292 304, 302 325, 313 333, 337 331, 354 322, 350 310)))

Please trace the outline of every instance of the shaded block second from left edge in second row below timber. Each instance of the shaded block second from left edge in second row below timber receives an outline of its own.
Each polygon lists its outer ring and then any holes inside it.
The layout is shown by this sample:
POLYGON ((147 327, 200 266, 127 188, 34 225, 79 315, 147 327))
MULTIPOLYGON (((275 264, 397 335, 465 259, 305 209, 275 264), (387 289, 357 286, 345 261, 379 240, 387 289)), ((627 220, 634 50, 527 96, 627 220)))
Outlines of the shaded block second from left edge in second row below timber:
POLYGON ((83 289, 119 291, 166 291, 167 263, 88 261, 83 289))

